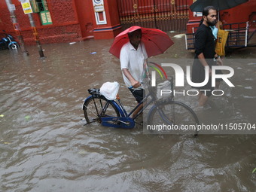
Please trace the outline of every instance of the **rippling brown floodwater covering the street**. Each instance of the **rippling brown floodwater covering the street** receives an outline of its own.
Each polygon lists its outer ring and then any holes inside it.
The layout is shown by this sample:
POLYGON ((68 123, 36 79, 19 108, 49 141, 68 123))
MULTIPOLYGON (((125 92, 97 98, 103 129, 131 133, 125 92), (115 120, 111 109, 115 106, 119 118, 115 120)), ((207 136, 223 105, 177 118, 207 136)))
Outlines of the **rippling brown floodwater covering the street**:
MULTIPOLYGON (((173 40, 151 61, 193 59, 184 37, 173 40)), ((253 134, 194 138, 84 126, 87 89, 106 81, 120 83, 127 111, 136 105, 108 53, 112 41, 42 45, 45 59, 35 46, 28 57, 0 51, 0 191, 254 191, 253 134)), ((177 100, 195 107, 200 122, 255 123, 255 53, 229 53, 245 62, 234 64, 236 87, 222 84, 225 95, 211 97, 213 107, 197 109, 196 97, 177 100)))

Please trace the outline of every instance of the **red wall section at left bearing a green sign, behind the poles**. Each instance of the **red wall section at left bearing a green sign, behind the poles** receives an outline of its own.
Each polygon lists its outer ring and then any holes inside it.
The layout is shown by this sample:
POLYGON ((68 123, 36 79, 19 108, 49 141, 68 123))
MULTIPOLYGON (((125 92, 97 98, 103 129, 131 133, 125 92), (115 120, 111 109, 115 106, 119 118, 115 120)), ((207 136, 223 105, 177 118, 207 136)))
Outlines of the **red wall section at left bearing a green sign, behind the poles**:
MULTIPOLYGON (((14 35, 14 25, 11 22, 8 6, 5 0, 1 0, 0 2, 0 32, 5 30, 14 35)), ((49 44, 82 39, 78 14, 74 11, 76 10, 74 0, 34 0, 30 2, 31 5, 38 5, 33 8, 35 13, 32 16, 41 43, 49 44)), ((35 40, 29 23, 29 17, 24 14, 21 2, 12 0, 12 5, 15 6, 14 13, 17 17, 17 23, 20 26, 21 35, 23 35, 25 43, 34 44, 35 40)))

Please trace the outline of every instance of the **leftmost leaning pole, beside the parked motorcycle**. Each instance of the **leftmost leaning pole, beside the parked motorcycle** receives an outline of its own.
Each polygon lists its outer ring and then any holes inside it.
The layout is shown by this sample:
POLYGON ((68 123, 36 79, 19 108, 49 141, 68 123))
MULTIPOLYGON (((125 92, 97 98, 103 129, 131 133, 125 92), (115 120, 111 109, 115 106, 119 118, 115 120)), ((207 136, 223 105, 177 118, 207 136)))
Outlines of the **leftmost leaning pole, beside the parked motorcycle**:
POLYGON ((19 23, 17 23, 17 17, 14 13, 15 11, 15 5, 12 4, 11 0, 5 0, 6 2, 6 5, 8 6, 8 10, 10 11, 10 14, 11 14, 11 21, 14 25, 14 30, 18 36, 18 39, 19 39, 19 42, 20 42, 20 48, 21 48, 21 51, 26 54, 26 55, 29 55, 29 52, 26 50, 25 48, 25 44, 24 44, 24 40, 23 40, 23 35, 21 35, 21 32, 20 32, 20 25, 19 23))

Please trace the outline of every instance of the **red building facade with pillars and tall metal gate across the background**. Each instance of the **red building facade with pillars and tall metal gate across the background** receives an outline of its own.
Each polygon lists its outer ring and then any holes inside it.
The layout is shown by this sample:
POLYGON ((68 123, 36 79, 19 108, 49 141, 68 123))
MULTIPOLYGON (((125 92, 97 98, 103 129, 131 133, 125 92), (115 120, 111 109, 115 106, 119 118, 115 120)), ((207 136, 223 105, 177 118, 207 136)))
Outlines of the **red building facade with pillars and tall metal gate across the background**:
MULTIPOLYGON (((19 26, 25 44, 35 44, 35 39, 23 2, 30 2, 41 44, 114 38, 133 25, 190 32, 200 20, 189 10, 194 0, 20 1, 0 0, 0 37, 4 36, 3 30, 15 37, 14 29, 19 26), (6 1, 11 1, 19 25, 11 22, 6 1)), ((255 20, 255 2, 249 0, 236 8, 221 11, 221 20, 225 23, 255 20)))

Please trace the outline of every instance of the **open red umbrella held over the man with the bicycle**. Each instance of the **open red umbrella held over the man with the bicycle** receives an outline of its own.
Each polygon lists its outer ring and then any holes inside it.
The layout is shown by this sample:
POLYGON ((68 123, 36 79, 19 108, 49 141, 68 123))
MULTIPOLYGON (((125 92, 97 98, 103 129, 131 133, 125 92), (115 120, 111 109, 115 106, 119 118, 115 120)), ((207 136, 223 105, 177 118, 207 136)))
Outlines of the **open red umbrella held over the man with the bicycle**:
POLYGON ((128 32, 142 29, 142 42, 145 44, 148 56, 155 56, 164 53, 169 47, 171 47, 173 41, 169 36, 159 29, 149 29, 140 26, 131 26, 129 29, 124 30, 114 38, 114 42, 111 45, 109 52, 119 58, 120 50, 123 44, 126 44, 129 40, 128 32))

